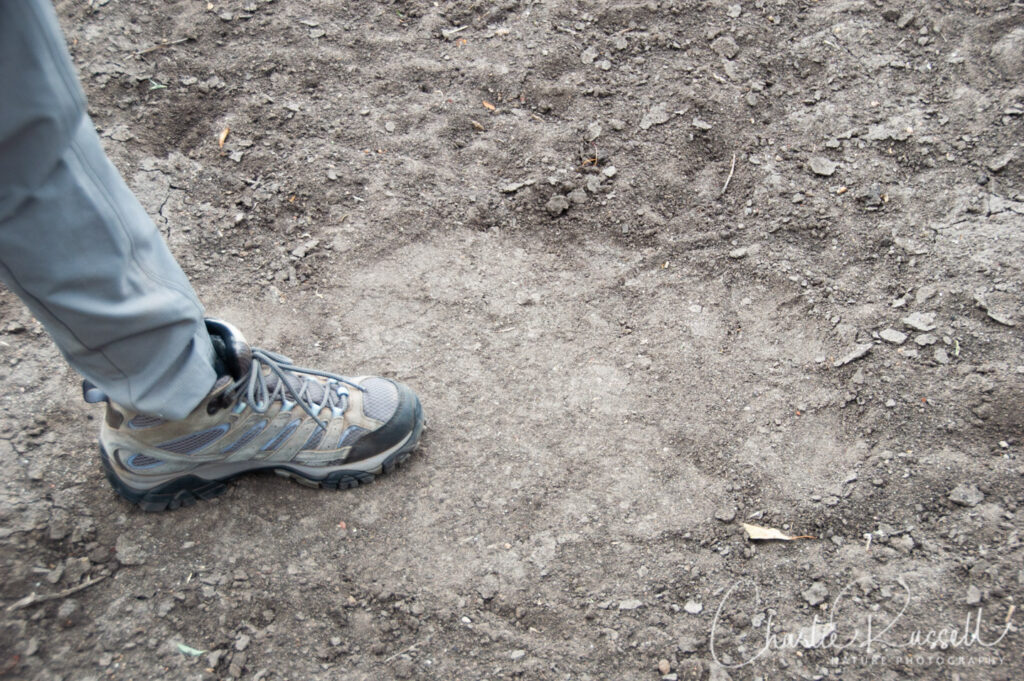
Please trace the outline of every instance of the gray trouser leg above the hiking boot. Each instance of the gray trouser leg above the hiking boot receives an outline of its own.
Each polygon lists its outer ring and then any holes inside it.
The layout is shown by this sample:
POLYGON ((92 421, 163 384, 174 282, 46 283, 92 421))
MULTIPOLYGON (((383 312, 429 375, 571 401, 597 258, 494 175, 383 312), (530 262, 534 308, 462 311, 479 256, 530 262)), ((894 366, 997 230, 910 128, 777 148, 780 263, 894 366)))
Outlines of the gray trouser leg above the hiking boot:
POLYGON ((0 0, 0 280, 118 403, 180 419, 216 381, 203 306, 106 159, 47 0, 0 0))

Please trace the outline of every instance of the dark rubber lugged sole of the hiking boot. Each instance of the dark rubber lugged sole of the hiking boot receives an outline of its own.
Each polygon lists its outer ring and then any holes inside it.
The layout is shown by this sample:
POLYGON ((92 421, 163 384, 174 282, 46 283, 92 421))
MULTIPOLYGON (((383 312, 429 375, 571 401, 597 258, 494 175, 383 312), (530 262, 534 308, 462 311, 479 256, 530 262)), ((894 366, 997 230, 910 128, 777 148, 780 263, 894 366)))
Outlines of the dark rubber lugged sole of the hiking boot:
POLYGON ((391 453, 381 453, 362 461, 352 462, 349 468, 332 470, 326 475, 317 475, 315 468, 296 466, 287 463, 262 465, 261 462, 249 462, 255 465, 232 471, 226 475, 205 478, 196 474, 186 474, 164 482, 148 490, 139 490, 121 479, 111 461, 110 455, 102 444, 99 446, 99 460, 103 466, 106 479, 114 491, 136 504, 143 511, 168 511, 191 506, 200 500, 210 500, 219 497, 227 491, 227 482, 254 471, 272 470, 278 475, 288 477, 309 487, 326 490, 350 490, 360 484, 373 482, 378 475, 390 473, 403 461, 409 459, 420 443, 423 432, 423 411, 417 403, 416 427, 404 441, 391 453), (378 461, 380 459, 380 461, 378 461))

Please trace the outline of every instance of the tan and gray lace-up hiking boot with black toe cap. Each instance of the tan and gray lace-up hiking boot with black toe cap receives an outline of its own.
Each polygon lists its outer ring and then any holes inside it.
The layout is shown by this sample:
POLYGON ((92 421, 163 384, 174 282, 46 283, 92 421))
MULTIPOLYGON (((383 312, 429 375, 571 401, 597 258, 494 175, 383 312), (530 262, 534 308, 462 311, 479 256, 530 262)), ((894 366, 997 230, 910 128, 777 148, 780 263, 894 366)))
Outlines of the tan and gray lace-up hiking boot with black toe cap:
POLYGON ((139 414, 83 384, 86 401, 106 401, 99 433, 106 479, 146 511, 211 499, 256 470, 354 487, 391 471, 419 443, 423 410, 404 385, 301 369, 251 347, 229 324, 207 320, 206 328, 221 376, 181 421, 139 414))

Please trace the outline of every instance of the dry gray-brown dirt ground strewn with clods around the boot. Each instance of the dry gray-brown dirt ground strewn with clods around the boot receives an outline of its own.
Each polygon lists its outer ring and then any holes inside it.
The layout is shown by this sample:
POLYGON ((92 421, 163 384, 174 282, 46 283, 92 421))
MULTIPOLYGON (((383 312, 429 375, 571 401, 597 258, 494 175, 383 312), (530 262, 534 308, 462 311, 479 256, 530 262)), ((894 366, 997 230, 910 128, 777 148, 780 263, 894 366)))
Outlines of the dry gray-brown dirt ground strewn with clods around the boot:
POLYGON ((208 311, 429 429, 145 514, 0 293, 0 677, 1024 678, 1021 2, 57 9, 208 311))

